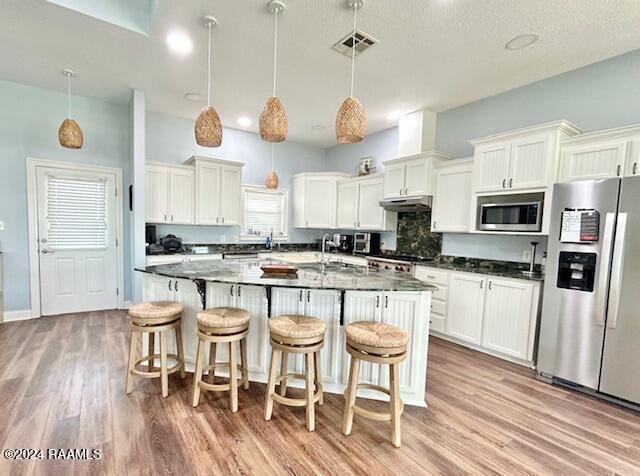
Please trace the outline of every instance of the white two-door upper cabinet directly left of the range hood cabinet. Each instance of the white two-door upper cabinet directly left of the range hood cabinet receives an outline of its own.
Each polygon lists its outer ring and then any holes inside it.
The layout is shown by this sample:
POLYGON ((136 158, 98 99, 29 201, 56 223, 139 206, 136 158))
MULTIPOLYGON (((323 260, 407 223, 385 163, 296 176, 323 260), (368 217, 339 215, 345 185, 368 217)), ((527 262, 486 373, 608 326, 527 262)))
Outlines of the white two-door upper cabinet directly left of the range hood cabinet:
POLYGON ((395 230, 397 213, 380 207, 382 174, 341 180, 337 185, 337 228, 395 230))

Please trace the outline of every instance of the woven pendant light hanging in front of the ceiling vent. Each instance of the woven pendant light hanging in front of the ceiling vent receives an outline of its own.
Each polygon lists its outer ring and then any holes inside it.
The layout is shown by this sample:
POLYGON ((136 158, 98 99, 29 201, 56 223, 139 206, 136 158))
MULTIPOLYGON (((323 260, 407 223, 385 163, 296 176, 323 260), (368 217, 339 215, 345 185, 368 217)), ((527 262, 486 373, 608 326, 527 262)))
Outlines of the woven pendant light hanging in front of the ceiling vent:
POLYGON ((353 8, 353 38, 351 44, 351 93, 343 101, 336 117, 336 138, 341 144, 353 144, 364 139, 367 117, 360 101, 353 96, 353 81, 356 67, 356 19, 357 11, 364 0, 346 0, 347 7, 353 8))

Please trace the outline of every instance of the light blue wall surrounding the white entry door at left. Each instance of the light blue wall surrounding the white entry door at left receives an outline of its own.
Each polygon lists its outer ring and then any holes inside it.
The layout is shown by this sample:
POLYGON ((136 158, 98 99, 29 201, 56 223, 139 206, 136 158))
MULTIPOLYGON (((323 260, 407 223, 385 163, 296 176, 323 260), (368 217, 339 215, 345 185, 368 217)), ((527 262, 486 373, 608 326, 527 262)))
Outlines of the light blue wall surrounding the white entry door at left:
MULTIPOLYGON (((119 167, 129 183, 129 113, 127 106, 74 96, 73 116, 84 134, 84 147, 58 144, 58 127, 66 117, 66 95, 8 81, 0 81, 0 249, 4 255, 5 310, 29 309, 29 253, 27 248, 26 157, 119 167)), ((125 201, 126 202, 126 201, 125 201)), ((124 204, 124 236, 129 236, 124 204)), ((126 239, 125 239, 126 241, 126 239)), ((130 269, 124 247, 125 270, 130 269)), ((125 298, 130 296, 125 272, 125 298)))

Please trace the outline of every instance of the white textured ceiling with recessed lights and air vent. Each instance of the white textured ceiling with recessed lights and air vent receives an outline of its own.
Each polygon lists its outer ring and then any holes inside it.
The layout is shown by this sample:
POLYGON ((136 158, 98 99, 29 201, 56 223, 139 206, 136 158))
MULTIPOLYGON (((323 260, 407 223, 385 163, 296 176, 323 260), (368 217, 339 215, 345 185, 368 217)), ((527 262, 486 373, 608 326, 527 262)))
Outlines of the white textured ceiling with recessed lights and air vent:
MULTIPOLYGON (((131 88, 147 107, 195 117, 206 97, 206 29, 215 32, 213 103, 226 126, 257 117, 271 92, 273 20, 266 0, 161 0, 144 36, 44 0, 2 0, 0 78, 65 90, 62 68, 78 73, 80 95, 124 103, 131 88), (191 55, 170 52, 165 37, 184 31, 191 55)), ((368 133, 393 125, 386 115, 436 111, 640 48, 637 0, 368 0, 359 29, 380 43, 358 57, 355 94, 368 133), (402 8, 400 8, 402 7, 402 8), (533 46, 508 51, 525 32, 533 46)), ((280 18, 279 96, 289 113, 289 139, 335 144, 335 113, 349 92, 349 59, 331 45, 351 28, 342 0, 289 0, 280 18), (324 131, 311 128, 314 124, 324 131)))

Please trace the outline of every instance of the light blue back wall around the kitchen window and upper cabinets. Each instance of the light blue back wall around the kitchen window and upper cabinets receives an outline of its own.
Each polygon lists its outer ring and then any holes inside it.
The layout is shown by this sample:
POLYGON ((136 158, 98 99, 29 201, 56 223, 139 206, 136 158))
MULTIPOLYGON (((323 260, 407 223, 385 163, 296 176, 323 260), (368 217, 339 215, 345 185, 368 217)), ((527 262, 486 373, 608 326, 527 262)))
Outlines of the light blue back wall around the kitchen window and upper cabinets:
MULTIPOLYGON (((237 129, 224 129, 222 145, 218 148, 200 147, 193 135, 193 120, 147 112, 147 160, 182 163, 192 155, 203 155, 218 159, 244 162, 243 183, 264 185, 271 169, 271 144, 263 142, 257 134, 237 129)), ((280 188, 291 192, 292 176, 299 172, 321 172, 326 169, 325 151, 319 147, 287 141, 275 145, 275 170, 280 179, 280 188)), ((290 210, 293 207, 289 207, 290 210)), ((291 227, 290 241, 313 242, 321 238, 323 231, 300 230, 291 227)), ((158 236, 173 233, 185 243, 231 243, 238 241, 239 227, 158 225, 158 236)))

